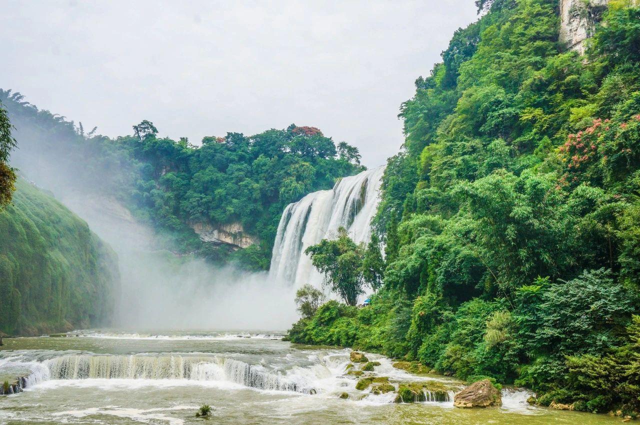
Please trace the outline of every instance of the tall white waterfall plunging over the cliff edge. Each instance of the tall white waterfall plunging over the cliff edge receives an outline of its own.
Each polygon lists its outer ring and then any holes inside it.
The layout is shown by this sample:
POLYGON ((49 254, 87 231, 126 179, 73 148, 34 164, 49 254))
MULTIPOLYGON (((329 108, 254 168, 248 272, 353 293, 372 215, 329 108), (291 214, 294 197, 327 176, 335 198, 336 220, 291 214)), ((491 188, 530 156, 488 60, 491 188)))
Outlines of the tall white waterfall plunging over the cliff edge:
POLYGON ((310 193, 289 204, 280 218, 270 277, 296 287, 322 282, 321 275, 304 251, 322 239, 335 237, 339 227, 348 230, 356 242, 371 237, 371 220, 380 202, 385 167, 340 179, 332 190, 310 193))

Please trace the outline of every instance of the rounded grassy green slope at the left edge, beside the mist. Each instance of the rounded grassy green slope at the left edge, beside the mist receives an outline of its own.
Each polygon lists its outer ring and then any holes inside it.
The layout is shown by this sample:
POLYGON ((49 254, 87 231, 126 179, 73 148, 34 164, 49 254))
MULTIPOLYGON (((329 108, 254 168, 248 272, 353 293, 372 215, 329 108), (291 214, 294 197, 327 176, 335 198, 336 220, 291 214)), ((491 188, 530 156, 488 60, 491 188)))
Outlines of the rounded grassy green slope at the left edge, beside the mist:
POLYGON ((111 318, 115 253, 60 202, 19 179, 0 211, 0 331, 35 335, 111 318))

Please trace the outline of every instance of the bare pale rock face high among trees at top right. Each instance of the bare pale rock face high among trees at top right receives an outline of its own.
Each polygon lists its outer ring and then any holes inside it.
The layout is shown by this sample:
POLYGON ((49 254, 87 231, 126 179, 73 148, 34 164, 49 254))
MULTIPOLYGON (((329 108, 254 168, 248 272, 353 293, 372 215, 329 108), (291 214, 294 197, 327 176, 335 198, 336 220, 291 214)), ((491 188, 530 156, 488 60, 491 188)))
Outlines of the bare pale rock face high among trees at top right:
MULTIPOLYGON (((585 40, 593 36, 596 24, 611 0, 561 0, 560 42, 567 49, 584 54, 585 40)), ((630 6, 640 6, 640 0, 628 0, 630 6)))

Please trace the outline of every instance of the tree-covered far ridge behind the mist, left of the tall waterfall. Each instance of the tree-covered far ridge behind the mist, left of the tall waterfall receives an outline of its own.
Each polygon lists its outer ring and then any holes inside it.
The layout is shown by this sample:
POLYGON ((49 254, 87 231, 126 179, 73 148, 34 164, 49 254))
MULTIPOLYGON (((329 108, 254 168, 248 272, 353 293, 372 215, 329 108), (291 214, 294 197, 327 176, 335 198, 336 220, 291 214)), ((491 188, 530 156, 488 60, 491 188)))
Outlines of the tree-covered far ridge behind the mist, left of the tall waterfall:
POLYGON ((290 125, 250 137, 230 132, 196 147, 186 138, 160 137, 147 120, 133 126, 132 136, 114 140, 38 110, 19 93, 0 90, 0 101, 20 143, 13 163, 29 179, 54 193, 115 198, 172 250, 249 269, 268 268, 287 204, 362 169, 357 148, 336 145, 315 127, 290 125), (202 243, 195 223, 212 229, 237 223, 259 243, 237 251, 202 243))

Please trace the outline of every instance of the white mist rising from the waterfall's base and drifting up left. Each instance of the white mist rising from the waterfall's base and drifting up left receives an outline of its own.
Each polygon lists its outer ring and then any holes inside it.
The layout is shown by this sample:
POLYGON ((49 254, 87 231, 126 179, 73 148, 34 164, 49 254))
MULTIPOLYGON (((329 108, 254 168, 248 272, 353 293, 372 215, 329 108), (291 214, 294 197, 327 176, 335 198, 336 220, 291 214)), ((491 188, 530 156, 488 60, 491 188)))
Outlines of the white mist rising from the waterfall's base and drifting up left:
POLYGON ((292 284, 270 281, 267 272, 216 267, 194 255, 166 250, 161 237, 109 192, 131 178, 129 170, 109 162, 95 168, 95 162, 83 161, 82 156, 91 153, 80 151, 78 146, 86 140, 71 125, 67 131, 47 132, 34 120, 13 118, 19 148, 13 152, 12 166, 51 191, 118 255, 119 296, 109 325, 282 331, 296 320, 292 284), (77 157, 70 156, 74 152, 77 157))

